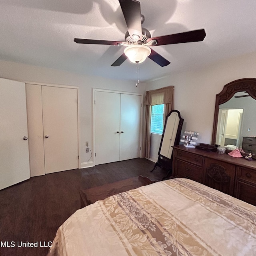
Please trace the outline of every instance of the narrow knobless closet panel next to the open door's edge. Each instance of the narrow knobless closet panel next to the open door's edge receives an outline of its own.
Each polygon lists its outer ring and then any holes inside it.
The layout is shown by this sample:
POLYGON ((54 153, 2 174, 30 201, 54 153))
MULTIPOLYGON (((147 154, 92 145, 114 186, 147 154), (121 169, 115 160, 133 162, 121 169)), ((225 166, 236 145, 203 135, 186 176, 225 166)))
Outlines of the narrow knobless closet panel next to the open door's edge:
POLYGON ((42 86, 26 84, 30 176, 45 174, 42 86))

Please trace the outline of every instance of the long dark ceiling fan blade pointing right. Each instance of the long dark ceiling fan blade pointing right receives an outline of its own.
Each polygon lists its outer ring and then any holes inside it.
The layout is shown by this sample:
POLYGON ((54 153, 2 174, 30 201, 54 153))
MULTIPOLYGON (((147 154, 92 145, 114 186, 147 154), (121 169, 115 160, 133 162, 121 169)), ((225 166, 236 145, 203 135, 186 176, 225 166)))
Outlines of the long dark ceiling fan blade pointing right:
POLYGON ((180 43, 188 43, 188 42, 199 42, 203 41, 206 36, 204 29, 192 30, 188 32, 172 34, 167 36, 156 36, 148 39, 156 40, 158 45, 166 45, 166 44, 180 44, 180 43))

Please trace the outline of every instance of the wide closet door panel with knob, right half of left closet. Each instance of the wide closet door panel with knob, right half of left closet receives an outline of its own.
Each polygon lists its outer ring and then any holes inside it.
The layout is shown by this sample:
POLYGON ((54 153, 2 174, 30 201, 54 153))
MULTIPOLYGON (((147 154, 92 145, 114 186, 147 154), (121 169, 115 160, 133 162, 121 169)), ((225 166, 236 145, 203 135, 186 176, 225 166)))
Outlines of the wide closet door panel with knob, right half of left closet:
POLYGON ((77 90, 42 86, 42 106, 45 173, 78 168, 77 90))

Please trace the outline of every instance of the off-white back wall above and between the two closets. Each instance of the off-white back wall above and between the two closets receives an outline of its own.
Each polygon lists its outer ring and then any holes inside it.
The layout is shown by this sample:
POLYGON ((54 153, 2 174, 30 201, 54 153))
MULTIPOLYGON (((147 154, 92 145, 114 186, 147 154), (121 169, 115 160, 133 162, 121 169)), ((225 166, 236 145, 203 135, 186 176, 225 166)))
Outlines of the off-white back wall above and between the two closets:
MULTIPOLYGON (((99 74, 100 75, 100 74, 99 74)), ((135 81, 111 80, 100 76, 84 76, 74 73, 68 73, 60 70, 30 66, 15 62, 6 62, 0 60, 0 77, 22 82, 38 82, 46 84, 60 84, 79 87, 79 148, 80 163, 87 166, 91 161, 91 154, 86 153, 85 142, 89 142, 89 148, 93 152, 93 116, 92 116, 92 88, 101 88, 108 90, 118 90, 123 92, 141 93, 145 91, 145 84, 140 82, 138 87, 135 81), (88 161, 89 160, 89 161, 88 161)))

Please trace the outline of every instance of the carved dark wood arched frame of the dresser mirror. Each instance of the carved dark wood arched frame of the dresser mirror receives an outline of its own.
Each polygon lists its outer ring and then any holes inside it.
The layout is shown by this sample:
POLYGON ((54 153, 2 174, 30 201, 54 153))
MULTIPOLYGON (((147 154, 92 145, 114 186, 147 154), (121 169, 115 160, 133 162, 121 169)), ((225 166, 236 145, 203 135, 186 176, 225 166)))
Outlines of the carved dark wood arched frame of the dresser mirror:
POLYGON ((230 100, 236 92, 247 92, 256 100, 256 78, 242 78, 224 85, 223 90, 216 95, 214 122, 212 130, 212 145, 216 144, 219 106, 230 100))

